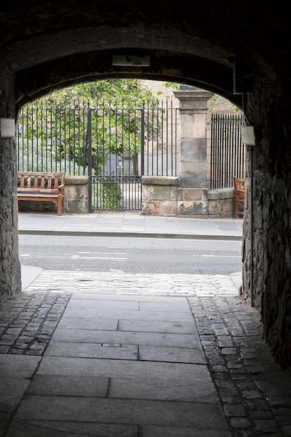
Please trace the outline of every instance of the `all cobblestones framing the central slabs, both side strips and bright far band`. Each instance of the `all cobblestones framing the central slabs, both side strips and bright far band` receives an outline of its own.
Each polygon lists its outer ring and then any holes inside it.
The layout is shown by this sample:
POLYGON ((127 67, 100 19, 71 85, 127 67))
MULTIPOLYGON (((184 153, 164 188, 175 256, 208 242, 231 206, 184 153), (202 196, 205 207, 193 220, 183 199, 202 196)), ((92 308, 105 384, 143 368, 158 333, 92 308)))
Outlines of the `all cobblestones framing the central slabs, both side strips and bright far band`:
POLYGON ((291 436, 291 378, 229 276, 44 271, 0 311, 0 353, 43 355, 73 292, 187 297, 231 435, 291 436))

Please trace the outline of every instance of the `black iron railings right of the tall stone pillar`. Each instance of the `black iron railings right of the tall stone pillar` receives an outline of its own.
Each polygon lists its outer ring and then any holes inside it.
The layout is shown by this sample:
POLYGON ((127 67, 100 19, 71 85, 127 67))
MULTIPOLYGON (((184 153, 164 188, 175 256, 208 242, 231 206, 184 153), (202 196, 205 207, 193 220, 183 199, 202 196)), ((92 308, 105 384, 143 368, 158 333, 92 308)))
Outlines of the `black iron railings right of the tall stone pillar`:
POLYGON ((241 144, 244 114, 211 114, 210 188, 233 186, 233 177, 245 177, 245 149, 241 144))

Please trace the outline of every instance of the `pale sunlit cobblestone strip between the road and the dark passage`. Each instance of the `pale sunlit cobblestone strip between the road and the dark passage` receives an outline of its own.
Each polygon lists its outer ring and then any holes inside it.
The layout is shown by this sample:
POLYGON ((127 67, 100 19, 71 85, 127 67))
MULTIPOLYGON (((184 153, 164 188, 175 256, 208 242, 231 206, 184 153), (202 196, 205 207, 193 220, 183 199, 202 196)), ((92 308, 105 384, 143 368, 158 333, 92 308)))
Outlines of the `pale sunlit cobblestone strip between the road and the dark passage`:
POLYGON ((230 276, 197 274, 126 274, 123 272, 42 272, 27 291, 106 292, 162 296, 233 296, 230 276))

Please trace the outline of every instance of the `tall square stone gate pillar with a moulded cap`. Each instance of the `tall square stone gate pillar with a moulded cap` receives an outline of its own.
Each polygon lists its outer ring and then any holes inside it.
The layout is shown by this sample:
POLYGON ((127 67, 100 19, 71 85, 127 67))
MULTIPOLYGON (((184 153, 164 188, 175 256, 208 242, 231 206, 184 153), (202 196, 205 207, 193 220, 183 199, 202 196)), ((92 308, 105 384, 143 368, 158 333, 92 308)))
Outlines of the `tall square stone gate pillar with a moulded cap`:
POLYGON ((184 86, 174 95, 180 102, 181 124, 177 212, 207 216, 207 101, 212 94, 184 86))

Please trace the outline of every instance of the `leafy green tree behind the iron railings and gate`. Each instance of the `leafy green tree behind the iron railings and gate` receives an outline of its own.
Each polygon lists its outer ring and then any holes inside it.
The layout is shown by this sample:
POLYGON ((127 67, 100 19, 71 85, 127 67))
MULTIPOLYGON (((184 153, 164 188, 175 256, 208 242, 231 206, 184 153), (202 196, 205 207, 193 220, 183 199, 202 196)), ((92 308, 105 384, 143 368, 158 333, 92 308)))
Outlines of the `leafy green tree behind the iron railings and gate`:
MULTIPOLYGON (((54 91, 24 109, 19 120, 22 142, 38 152, 31 165, 33 170, 48 171, 47 164, 56 162, 61 169, 70 163, 86 172, 87 162, 87 110, 92 121, 92 158, 95 172, 107 162, 110 154, 134 155, 140 150, 142 104, 154 105, 154 98, 147 87, 140 87, 137 80, 103 80, 78 84, 54 91), (39 151, 46 151, 50 159, 43 163, 39 151), (66 161, 70 161, 66 165, 66 161), (39 165, 42 167, 39 169, 39 165), (45 167, 45 168, 43 168, 45 167)), ((147 121, 149 123, 149 121, 147 121)), ((151 129, 158 121, 151 120, 151 129)), ((56 168, 57 170, 57 168, 56 168)))

